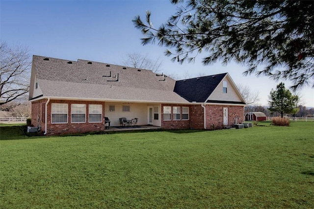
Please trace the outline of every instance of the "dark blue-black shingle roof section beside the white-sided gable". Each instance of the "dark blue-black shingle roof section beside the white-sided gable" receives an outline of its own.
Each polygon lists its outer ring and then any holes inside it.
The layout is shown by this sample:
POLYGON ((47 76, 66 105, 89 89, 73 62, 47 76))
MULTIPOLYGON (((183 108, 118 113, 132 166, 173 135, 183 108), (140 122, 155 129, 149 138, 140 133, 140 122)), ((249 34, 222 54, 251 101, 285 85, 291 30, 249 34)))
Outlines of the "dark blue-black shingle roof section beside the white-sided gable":
POLYGON ((177 81, 174 92, 189 102, 205 102, 226 74, 221 73, 177 81))

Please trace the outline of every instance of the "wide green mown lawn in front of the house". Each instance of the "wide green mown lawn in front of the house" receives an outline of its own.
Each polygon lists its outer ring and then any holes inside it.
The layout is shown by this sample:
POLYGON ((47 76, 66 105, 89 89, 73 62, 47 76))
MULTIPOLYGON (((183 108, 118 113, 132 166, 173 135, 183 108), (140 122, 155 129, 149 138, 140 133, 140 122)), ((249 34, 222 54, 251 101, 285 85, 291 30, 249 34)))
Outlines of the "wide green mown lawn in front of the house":
POLYGON ((313 136, 308 121, 1 140, 0 208, 312 208, 313 136))

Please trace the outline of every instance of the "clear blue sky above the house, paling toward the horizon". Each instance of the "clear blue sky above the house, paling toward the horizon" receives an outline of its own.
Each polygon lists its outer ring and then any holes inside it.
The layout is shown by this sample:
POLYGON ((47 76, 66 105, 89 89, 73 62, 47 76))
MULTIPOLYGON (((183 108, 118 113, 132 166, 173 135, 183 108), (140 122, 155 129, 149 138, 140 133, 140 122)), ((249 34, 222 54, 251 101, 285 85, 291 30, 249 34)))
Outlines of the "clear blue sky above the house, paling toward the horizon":
MULTIPOLYGON (((259 93, 257 105, 267 105, 268 95, 280 82, 255 75, 243 76, 245 66, 234 62, 223 66, 217 62, 204 66, 199 54, 194 63, 173 63, 164 56, 166 47, 141 45, 144 36, 132 19, 145 20, 151 11, 151 22, 158 27, 176 12, 169 0, 0 0, 0 39, 9 46, 26 46, 32 55, 65 60, 78 59, 123 65, 127 54, 148 55, 162 62, 160 72, 177 79, 228 72, 235 84, 248 86, 259 93)), ((314 89, 304 87, 298 93, 301 105, 314 107, 314 89)))

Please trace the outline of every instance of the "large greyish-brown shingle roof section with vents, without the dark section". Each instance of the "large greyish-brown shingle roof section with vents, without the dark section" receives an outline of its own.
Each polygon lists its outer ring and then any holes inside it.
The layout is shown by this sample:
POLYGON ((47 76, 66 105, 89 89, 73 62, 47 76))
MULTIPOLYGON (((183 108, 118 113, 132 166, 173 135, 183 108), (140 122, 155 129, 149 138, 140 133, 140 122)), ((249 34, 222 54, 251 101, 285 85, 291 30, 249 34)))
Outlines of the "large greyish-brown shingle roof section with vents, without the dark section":
POLYGON ((165 81, 160 81, 164 77, 156 76, 152 70, 80 59, 77 62, 50 57, 48 59, 33 56, 32 68, 44 96, 187 102, 173 92, 175 80, 166 77, 165 81), (103 77, 109 76, 110 72, 111 77, 103 77), (119 81, 116 81, 118 78, 119 81))

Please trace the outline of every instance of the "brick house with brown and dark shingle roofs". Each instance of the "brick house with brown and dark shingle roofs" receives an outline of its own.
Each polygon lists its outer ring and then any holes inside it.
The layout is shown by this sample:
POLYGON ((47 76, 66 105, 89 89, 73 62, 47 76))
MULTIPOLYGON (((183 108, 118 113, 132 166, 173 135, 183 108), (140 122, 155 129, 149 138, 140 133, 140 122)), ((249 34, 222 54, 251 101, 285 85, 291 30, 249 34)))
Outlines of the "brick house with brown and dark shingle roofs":
POLYGON ((228 73, 175 81, 163 73, 88 60, 33 56, 31 122, 47 135, 105 130, 119 118, 162 129, 222 129, 244 120, 228 73))

